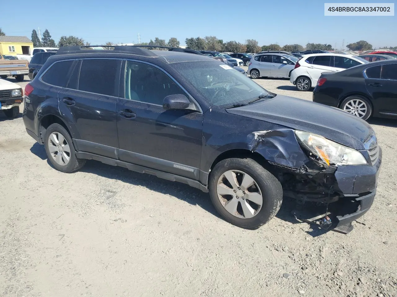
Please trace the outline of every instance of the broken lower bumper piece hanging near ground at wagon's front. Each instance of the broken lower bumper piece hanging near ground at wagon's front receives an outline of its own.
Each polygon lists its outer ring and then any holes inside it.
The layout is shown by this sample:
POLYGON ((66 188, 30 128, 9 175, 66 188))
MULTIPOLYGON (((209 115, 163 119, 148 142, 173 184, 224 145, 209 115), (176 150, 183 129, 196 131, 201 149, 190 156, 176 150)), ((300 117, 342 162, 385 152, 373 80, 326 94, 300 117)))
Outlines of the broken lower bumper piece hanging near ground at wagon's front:
POLYGON ((292 214, 299 221, 317 225, 325 230, 333 230, 342 234, 347 234, 353 230, 352 222, 364 215, 374 201, 376 190, 362 194, 345 195, 337 202, 329 205, 328 212, 326 205, 322 205, 323 211, 316 204, 305 204, 304 208, 299 205, 299 209, 292 211, 292 214))

